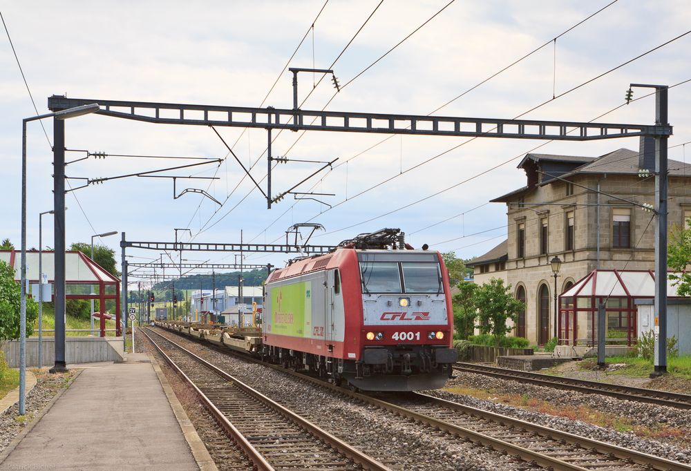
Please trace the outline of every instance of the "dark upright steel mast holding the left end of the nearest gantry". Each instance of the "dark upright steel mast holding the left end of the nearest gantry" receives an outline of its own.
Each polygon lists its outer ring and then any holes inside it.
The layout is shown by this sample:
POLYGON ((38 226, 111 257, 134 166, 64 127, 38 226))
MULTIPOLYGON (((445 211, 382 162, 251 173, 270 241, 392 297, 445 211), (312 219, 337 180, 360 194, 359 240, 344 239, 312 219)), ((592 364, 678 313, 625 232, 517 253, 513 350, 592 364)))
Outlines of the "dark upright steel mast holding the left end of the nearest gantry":
POLYGON ((67 371, 65 358, 65 122, 53 119, 53 211, 55 211, 55 365, 51 373, 67 371))

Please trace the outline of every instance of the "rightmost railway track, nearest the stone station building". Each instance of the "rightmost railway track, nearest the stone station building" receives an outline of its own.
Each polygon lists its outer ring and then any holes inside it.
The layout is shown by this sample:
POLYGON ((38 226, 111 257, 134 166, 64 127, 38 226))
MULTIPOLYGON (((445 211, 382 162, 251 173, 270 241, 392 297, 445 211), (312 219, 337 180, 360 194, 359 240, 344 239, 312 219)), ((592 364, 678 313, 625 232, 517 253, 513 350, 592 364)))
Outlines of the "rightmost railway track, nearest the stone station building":
POLYGON ((464 373, 484 374, 494 378, 520 381, 562 390, 583 392, 585 394, 603 394, 627 401, 639 401, 657 405, 667 405, 681 409, 691 409, 691 395, 660 390, 647 390, 643 387, 619 386, 598 381, 587 381, 574 378, 563 378, 533 372, 522 372, 518 369, 475 365, 474 363, 456 363, 453 369, 464 373))

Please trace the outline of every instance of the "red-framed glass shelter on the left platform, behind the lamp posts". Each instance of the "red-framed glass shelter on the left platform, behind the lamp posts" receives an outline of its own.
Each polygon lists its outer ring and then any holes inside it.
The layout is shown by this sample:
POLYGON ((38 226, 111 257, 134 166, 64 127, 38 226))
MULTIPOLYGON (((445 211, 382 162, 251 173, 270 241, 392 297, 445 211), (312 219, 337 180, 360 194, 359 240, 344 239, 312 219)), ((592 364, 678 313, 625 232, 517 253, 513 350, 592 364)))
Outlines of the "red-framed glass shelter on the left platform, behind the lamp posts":
MULTIPOLYGON (((48 277, 51 299, 54 299, 55 289, 55 253, 42 251, 41 262, 43 272, 48 277)), ((15 280, 21 281, 21 251, 0 250, 0 260, 15 269, 15 280)), ((26 252, 26 279, 30 284, 39 283, 39 251, 26 252)), ((122 335, 120 327, 120 280, 108 273, 103 267, 79 251, 65 253, 65 297, 67 299, 95 299, 99 301, 100 336, 106 336, 106 300, 115 300, 115 336, 122 335)), ((27 293, 30 295, 30 293, 27 293)))

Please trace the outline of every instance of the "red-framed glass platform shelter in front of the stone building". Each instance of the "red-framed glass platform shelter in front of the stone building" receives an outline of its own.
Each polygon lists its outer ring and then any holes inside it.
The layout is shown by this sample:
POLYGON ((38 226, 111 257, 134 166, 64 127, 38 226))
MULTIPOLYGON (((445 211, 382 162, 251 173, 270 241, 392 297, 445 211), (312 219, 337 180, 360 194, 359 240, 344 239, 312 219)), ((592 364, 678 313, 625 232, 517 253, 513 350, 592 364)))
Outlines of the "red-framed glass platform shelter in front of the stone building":
MULTIPOLYGON (((606 343, 632 346, 641 329, 638 305, 654 299, 655 274, 652 270, 593 270, 559 296, 559 345, 594 346, 598 338, 598 307, 605 303, 606 343)), ((680 298, 667 280, 667 296, 680 298)), ((652 326, 645 326, 646 329, 652 326)))

